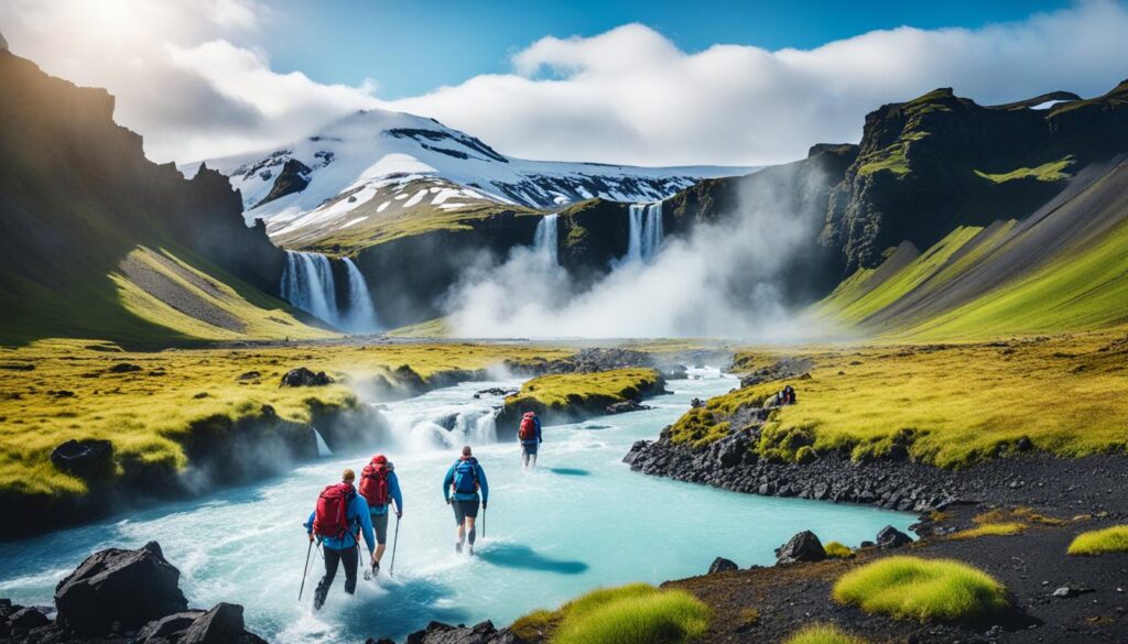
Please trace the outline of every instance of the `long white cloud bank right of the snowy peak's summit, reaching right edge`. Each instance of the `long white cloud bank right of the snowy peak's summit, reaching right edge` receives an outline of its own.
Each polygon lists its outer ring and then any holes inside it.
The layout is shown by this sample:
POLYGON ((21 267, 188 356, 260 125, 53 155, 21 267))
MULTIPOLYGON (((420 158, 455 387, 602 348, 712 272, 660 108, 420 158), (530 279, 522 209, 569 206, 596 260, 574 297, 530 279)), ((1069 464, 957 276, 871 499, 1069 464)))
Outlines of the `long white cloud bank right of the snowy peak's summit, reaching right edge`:
POLYGON ((1107 91, 1128 76, 1125 33, 1128 10, 1112 0, 980 29, 901 27, 776 52, 685 53, 627 25, 543 38, 513 56, 511 74, 386 105, 529 158, 757 165, 857 141, 867 112, 936 87, 982 104, 1107 91))

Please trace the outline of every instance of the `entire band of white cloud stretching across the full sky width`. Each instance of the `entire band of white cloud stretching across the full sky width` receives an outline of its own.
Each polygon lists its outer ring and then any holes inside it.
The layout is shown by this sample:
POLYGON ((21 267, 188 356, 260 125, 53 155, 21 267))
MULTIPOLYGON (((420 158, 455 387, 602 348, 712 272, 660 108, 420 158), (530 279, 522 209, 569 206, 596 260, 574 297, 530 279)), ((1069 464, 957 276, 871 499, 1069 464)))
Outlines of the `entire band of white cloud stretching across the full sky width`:
POLYGON ((258 45, 258 0, 0 0, 19 55, 108 88, 116 118, 157 160, 265 149, 359 107, 433 116, 515 156, 644 165, 759 165, 816 142, 856 141, 882 103, 954 87, 984 104, 1066 89, 1093 95, 1128 76, 1128 9, 1069 9, 980 29, 871 32, 813 50, 714 45, 680 51, 643 25, 543 38, 513 71, 394 102, 376 85, 279 73, 258 45))

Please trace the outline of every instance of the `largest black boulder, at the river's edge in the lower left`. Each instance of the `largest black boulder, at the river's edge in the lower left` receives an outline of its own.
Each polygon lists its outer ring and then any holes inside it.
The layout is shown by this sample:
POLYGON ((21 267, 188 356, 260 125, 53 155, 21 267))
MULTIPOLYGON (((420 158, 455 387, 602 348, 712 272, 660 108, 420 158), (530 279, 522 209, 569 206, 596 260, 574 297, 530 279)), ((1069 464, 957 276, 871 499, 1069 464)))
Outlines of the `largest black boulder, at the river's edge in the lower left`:
POLYGON ((115 621, 140 628, 188 608, 179 580, 156 541, 136 550, 100 550, 55 586, 59 621, 80 635, 105 634, 115 621))

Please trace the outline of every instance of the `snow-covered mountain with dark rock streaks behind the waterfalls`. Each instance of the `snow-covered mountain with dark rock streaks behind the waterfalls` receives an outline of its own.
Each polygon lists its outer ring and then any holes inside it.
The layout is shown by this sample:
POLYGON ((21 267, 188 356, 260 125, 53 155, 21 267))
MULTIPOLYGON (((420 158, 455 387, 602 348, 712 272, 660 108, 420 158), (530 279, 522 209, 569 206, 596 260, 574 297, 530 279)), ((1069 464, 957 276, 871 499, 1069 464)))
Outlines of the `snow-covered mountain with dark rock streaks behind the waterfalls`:
MULTIPOLYGON (((241 191, 248 223, 265 220, 270 235, 289 247, 341 236, 362 246, 365 231, 388 221, 483 205, 656 201, 703 178, 751 170, 515 159, 433 118, 380 109, 351 114, 268 153, 205 164, 241 191)), ((195 165, 185 169, 195 171, 195 165)), ((380 237, 373 235, 371 242, 380 237)))

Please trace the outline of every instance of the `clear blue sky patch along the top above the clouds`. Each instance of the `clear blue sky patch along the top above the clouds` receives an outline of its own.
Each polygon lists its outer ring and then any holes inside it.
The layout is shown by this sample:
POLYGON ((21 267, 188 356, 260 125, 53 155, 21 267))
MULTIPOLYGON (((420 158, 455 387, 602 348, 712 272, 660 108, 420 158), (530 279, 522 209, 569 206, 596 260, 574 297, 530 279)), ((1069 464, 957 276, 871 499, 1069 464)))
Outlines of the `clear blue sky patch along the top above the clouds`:
POLYGON ((373 79, 378 95, 394 99, 479 73, 509 71, 509 56, 544 36, 593 36, 628 23, 656 29, 686 52, 714 44, 813 48, 874 29, 978 28, 1068 5, 1061 0, 282 0, 272 5, 275 15, 266 20, 262 46, 279 71, 302 71, 320 82, 358 85, 373 79))

